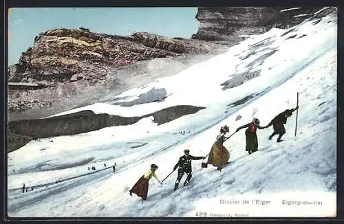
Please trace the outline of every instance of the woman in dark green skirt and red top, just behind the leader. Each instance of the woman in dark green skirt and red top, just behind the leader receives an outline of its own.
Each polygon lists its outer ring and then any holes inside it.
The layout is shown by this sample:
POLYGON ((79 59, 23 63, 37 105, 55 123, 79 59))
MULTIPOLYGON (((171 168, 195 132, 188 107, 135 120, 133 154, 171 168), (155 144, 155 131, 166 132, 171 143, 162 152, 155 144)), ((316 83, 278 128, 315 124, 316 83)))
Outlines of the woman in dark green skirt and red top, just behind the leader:
POLYGON ((258 139, 257 139, 257 133, 256 133, 257 128, 258 129, 266 128, 266 127, 259 126, 259 124, 260 124, 259 119, 254 117, 252 122, 237 128, 237 131, 239 131, 241 128, 247 128, 245 131, 245 135, 246 135, 246 151, 248 151, 248 154, 255 153, 258 150, 258 139))

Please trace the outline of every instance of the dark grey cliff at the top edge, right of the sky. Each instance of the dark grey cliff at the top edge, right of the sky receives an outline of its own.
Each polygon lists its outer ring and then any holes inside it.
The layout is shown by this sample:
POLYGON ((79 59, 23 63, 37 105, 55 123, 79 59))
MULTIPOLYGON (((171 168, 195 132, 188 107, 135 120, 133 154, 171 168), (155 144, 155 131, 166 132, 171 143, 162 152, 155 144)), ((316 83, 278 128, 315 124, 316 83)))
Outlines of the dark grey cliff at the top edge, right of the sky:
POLYGON ((200 27, 193 38, 229 41, 236 44, 249 34, 261 34, 272 27, 285 29, 310 18, 322 7, 200 7, 196 19, 200 27))

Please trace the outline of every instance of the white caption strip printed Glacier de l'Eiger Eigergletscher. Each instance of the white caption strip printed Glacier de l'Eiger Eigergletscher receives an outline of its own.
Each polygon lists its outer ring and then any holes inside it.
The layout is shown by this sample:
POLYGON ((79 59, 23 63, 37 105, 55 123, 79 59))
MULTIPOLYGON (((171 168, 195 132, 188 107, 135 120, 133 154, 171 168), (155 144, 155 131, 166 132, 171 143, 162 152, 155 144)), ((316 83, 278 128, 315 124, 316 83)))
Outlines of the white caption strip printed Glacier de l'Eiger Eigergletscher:
POLYGON ((188 217, 336 217, 336 192, 238 194, 199 199, 188 217))

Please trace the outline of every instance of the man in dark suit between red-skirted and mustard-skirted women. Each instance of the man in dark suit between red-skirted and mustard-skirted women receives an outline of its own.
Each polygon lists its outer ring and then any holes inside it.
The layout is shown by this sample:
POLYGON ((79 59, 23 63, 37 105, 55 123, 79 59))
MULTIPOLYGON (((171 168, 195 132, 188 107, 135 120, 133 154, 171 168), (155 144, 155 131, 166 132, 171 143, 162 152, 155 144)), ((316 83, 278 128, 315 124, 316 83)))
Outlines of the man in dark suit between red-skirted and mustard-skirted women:
POLYGON ((186 149, 184 150, 185 155, 183 155, 182 157, 179 158, 179 161, 177 164, 175 164, 173 170, 176 170, 178 168, 178 177, 177 180, 175 181, 175 186, 173 190, 177 190, 180 180, 182 179, 184 172, 186 172, 186 175, 188 175, 188 177, 186 177, 186 180, 184 182, 184 186, 187 186, 192 175, 192 169, 191 169, 191 160, 198 160, 198 159, 205 159, 206 157, 193 157, 192 155, 190 155, 190 150, 186 149))

